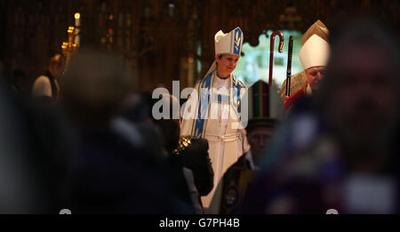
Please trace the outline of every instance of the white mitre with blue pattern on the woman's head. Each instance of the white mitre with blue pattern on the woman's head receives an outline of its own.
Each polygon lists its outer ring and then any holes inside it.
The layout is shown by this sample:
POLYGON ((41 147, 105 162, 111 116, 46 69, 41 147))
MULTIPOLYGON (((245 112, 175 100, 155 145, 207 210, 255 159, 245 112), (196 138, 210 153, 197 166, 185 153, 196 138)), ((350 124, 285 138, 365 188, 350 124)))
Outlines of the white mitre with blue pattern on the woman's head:
MULTIPOLYGON (((221 30, 217 32, 214 36, 215 42, 215 54, 230 54, 230 55, 239 55, 242 52, 244 35, 242 30, 237 27, 231 30, 228 33, 223 33, 221 30)), ((208 74, 217 68, 216 62, 212 63, 212 67, 208 70, 208 74)))

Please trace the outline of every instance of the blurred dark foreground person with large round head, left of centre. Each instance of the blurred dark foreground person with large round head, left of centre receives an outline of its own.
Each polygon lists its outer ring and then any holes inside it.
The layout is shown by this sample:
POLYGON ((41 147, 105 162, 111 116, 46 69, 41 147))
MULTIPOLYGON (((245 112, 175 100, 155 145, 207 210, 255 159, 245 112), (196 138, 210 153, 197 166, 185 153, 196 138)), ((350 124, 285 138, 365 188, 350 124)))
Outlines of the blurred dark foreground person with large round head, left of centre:
POLYGON ((61 103, 76 134, 73 213, 188 212, 165 163, 148 154, 137 127, 120 116, 131 80, 116 55, 84 50, 61 80, 61 103))

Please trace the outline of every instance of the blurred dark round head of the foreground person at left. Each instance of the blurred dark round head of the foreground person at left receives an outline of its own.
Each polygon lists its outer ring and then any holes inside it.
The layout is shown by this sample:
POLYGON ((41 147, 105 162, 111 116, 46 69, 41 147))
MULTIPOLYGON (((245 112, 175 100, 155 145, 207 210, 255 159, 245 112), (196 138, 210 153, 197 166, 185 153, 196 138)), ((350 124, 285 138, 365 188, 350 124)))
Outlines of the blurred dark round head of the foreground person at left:
POLYGON ((108 124, 131 83, 129 68, 115 54, 81 51, 72 57, 61 80, 61 99, 77 120, 108 124))

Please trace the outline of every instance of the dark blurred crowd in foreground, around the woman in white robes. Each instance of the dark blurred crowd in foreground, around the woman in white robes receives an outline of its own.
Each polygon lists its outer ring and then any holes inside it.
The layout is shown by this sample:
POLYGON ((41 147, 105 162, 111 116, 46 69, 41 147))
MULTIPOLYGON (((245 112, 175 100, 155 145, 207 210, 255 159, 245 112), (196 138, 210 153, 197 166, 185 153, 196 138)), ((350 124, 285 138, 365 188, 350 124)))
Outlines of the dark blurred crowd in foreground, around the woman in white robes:
POLYGON ((83 49, 66 72, 55 55, 32 84, 0 60, 0 213, 204 213, 216 185, 220 213, 398 213, 398 38, 370 20, 331 31, 318 88, 282 121, 250 119, 220 183, 208 141, 156 120, 116 54, 83 49))

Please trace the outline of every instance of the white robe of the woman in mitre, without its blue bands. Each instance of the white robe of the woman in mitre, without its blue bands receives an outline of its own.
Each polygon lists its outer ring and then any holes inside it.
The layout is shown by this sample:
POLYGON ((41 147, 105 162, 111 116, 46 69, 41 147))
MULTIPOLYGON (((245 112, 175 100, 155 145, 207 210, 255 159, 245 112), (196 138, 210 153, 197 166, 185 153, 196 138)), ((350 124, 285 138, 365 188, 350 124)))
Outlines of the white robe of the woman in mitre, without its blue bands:
MULTIPOLYGON (((228 97, 232 77, 220 79, 215 74, 213 75, 212 88, 216 90, 213 93, 228 97)), ((197 90, 197 87, 198 84, 196 84, 195 90, 197 90)), ((243 96, 245 91, 246 89, 242 88, 240 95, 243 96)), ((194 98, 189 98, 187 108, 191 106, 197 111, 198 104, 195 107, 196 103, 193 100, 194 98)), ((209 195, 202 196, 202 203, 205 213, 219 213, 222 195, 219 182, 229 166, 235 164, 238 158, 249 150, 250 146, 247 143, 245 130, 235 127, 235 124, 240 123, 240 119, 238 117, 237 119, 232 118, 231 113, 236 112, 236 108, 232 104, 217 103, 211 100, 209 110, 203 137, 209 142, 209 155, 214 172, 214 188, 209 195)), ((185 119, 185 113, 180 136, 193 134, 193 119, 185 119)))

